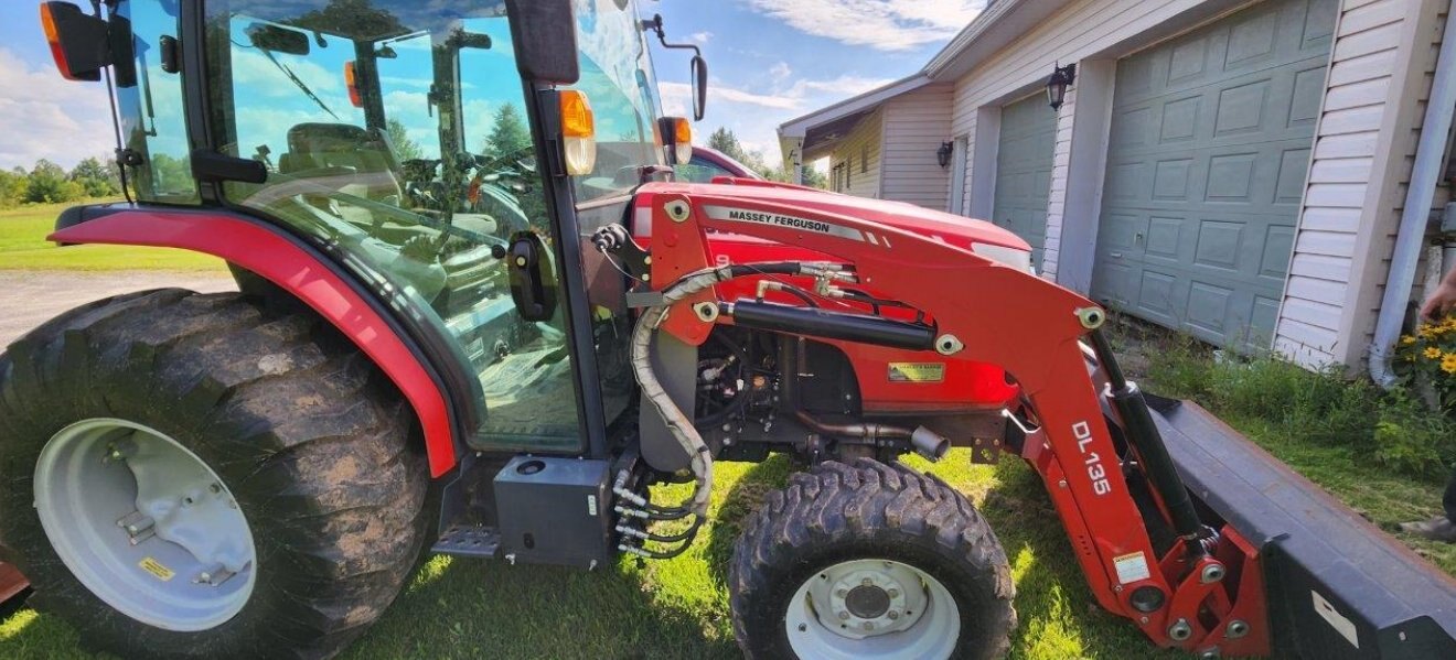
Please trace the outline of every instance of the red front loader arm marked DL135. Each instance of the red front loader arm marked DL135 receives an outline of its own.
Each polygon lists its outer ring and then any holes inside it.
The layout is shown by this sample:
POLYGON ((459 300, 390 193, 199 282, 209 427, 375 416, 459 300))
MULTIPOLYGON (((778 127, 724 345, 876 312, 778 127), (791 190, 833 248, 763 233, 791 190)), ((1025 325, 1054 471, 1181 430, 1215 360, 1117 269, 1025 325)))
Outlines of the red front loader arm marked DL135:
MULTIPOLYGON (((1251 551, 1188 552, 1184 542, 1155 551, 1118 465, 1102 395, 1088 371, 1082 340, 1101 324, 1096 304, 945 241, 807 205, 718 190, 722 186, 642 189, 638 209, 651 211, 654 236, 651 282, 668 283, 724 266, 711 257, 709 231, 811 243, 840 260, 859 286, 923 311, 935 333, 927 350, 946 361, 999 365, 1016 379, 1034 420, 1022 422, 1028 435, 1021 454, 1047 484, 1104 608, 1133 619, 1162 645, 1198 650, 1222 641, 1223 618, 1235 608, 1262 605, 1252 603, 1264 597, 1259 589, 1233 589, 1207 579, 1257 573, 1241 570, 1252 560, 1251 551), (1224 566, 1227 561, 1236 566, 1224 566)), ((700 345, 713 323, 734 323, 734 304, 705 291, 674 304, 661 330, 700 345), (705 302, 724 314, 705 321, 695 311, 705 302)), ((1220 538, 1233 547, 1242 541, 1236 532, 1220 538)), ((1241 635, 1243 653, 1267 653, 1262 621, 1257 628, 1258 634, 1241 635)))

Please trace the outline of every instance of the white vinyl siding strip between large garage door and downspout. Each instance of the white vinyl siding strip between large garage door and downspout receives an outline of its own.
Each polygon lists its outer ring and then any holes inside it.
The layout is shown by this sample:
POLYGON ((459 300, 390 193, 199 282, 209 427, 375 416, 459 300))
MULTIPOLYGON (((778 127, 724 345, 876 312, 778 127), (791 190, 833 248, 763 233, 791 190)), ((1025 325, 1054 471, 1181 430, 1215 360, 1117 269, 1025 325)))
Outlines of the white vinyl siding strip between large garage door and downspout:
POLYGON ((1446 4, 1341 6, 1274 343, 1303 365, 1354 365, 1369 349, 1446 4))

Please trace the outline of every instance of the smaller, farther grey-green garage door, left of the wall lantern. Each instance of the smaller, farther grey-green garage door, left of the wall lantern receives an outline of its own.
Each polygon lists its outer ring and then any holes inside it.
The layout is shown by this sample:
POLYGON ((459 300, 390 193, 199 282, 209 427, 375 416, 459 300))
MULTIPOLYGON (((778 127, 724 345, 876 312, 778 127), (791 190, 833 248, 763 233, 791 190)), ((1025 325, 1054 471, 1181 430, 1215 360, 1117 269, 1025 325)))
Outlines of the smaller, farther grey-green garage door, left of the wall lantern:
POLYGON ((1002 108, 992 222, 1031 243, 1032 263, 1038 269, 1047 243, 1047 195, 1056 140, 1057 113, 1047 106, 1044 94, 1002 108))

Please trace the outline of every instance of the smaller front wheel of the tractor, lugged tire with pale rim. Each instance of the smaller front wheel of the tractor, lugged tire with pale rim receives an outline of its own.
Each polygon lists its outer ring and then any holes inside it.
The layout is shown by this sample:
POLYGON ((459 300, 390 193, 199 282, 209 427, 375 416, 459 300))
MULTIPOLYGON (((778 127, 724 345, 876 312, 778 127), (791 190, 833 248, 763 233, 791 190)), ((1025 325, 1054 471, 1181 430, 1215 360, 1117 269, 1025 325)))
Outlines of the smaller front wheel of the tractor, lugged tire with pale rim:
POLYGON ((1016 627, 986 519, 943 481, 868 458, 820 464, 769 494, 728 584, 751 660, 990 659, 1016 627))

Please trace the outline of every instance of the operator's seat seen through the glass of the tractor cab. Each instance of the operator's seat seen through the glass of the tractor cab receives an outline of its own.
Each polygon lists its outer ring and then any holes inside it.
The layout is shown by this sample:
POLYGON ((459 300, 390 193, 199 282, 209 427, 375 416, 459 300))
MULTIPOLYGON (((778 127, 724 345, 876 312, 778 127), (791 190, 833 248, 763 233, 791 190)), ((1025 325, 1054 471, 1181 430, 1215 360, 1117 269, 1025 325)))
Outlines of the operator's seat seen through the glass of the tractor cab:
POLYGON ((300 179, 333 179, 347 195, 397 205, 399 158, 383 131, 352 124, 298 124, 288 129, 288 151, 278 172, 300 179))

